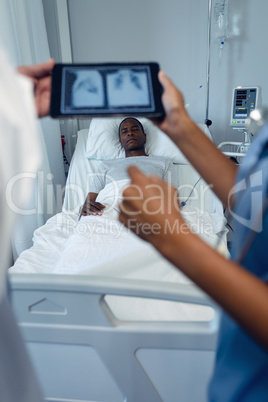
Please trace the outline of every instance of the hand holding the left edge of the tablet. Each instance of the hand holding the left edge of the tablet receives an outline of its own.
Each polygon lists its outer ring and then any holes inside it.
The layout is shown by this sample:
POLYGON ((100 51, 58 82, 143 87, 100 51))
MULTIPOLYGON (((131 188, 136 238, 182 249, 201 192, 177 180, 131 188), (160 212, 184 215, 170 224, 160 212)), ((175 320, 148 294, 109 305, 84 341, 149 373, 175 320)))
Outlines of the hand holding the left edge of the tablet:
POLYGON ((53 59, 45 63, 30 66, 19 66, 17 71, 33 81, 34 99, 37 114, 39 117, 45 117, 49 114, 51 97, 51 71, 55 65, 53 59))

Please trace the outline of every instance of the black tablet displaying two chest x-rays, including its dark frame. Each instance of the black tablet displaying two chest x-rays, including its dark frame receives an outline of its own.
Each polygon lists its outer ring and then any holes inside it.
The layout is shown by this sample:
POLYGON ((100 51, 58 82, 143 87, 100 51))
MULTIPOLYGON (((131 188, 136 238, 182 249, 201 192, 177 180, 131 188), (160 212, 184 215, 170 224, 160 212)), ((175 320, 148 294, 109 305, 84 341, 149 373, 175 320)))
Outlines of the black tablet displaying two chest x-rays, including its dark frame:
POLYGON ((50 115, 163 117, 158 72, 157 63, 56 64, 50 115))

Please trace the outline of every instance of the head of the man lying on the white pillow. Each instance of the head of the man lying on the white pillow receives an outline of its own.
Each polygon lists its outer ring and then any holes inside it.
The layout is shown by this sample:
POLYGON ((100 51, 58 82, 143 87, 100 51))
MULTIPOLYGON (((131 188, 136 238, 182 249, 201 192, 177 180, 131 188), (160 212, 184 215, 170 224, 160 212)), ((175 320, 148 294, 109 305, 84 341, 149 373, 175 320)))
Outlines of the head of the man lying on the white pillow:
POLYGON ((125 151, 144 149, 146 135, 134 119, 125 120, 120 127, 120 143, 125 151))

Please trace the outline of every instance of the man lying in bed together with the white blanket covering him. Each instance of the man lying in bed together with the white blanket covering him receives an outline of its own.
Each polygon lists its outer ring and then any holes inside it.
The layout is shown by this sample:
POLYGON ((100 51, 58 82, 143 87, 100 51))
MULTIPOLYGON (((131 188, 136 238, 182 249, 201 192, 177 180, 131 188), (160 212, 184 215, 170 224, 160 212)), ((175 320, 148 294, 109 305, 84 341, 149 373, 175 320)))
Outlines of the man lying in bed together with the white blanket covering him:
MULTIPOLYGON (((24 251, 11 272, 97 274, 188 283, 178 270, 161 258, 148 243, 118 221, 120 194, 129 184, 127 166, 136 164, 146 174, 156 174, 173 183, 171 160, 147 156, 146 135, 136 119, 126 119, 119 127, 125 158, 105 161, 90 183, 80 218, 62 212, 34 233, 34 245, 24 251)), ((218 237, 209 213, 184 208, 189 226, 209 244, 218 237), (206 230, 204 230, 206 228, 206 230)))

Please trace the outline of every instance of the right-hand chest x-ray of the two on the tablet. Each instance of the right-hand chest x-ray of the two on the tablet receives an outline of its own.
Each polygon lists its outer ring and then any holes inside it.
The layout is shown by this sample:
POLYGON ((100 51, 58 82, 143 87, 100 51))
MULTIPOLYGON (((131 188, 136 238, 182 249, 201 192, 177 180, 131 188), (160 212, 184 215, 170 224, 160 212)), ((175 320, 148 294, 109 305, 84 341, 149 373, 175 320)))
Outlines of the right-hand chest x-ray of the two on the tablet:
POLYGON ((120 69, 107 74, 107 99, 111 108, 151 105, 148 71, 145 69, 120 69))

